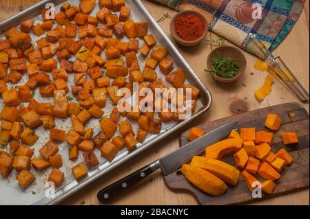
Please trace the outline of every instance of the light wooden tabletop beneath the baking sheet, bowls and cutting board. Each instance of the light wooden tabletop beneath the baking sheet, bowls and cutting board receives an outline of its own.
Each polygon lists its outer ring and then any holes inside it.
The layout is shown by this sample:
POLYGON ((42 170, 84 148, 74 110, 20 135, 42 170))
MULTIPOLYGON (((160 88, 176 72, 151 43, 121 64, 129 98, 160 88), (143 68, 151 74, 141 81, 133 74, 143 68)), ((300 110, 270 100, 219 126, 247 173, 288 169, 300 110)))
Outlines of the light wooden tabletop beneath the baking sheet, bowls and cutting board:
MULTIPOLYGON (((38 0, 0 0, 0 20, 8 18, 25 8, 28 8, 38 0)), ((149 12, 158 20, 164 13, 169 12, 173 15, 176 12, 163 5, 143 0, 149 12)), ((163 30, 169 34, 169 19, 159 23, 163 30)), ((227 43, 229 44, 229 43, 227 43)), ((250 54, 247 56, 247 70, 245 75, 235 84, 223 85, 216 83, 211 76, 205 73, 205 60, 211 51, 207 42, 192 48, 176 45, 181 54, 185 57, 189 65, 196 71, 200 80, 202 80, 214 97, 214 102, 210 110, 205 115, 189 124, 187 128, 195 126, 200 122, 207 122, 222 117, 233 115, 240 111, 251 111, 257 108, 273 106, 286 102, 298 102, 285 87, 276 81, 273 84, 271 95, 264 101, 258 102, 254 97, 254 91, 262 85, 266 73, 256 71, 253 68, 256 58, 250 54), (254 75, 250 74, 251 72, 254 75)), ((304 11, 298 22, 285 41, 276 49, 274 54, 282 57, 291 70, 296 73, 300 82, 309 90, 309 0, 306 1, 304 11)), ((309 112, 309 104, 303 104, 309 112)), ((80 192, 64 200, 62 205, 99 205, 96 193, 99 189, 110 185, 119 178, 138 170, 138 168, 163 157, 169 152, 178 148, 178 135, 175 133, 164 141, 158 142, 149 150, 143 152, 138 157, 123 164, 120 168, 113 170, 107 176, 87 185, 80 192)), ((174 192, 169 190, 163 181, 161 172, 158 171, 152 176, 145 178, 145 181, 138 183, 128 191, 120 194, 113 204, 115 205, 197 205, 196 200, 190 194, 174 192)), ((286 194, 270 198, 268 200, 258 200, 254 205, 309 205, 309 189, 303 189, 299 192, 286 194)))

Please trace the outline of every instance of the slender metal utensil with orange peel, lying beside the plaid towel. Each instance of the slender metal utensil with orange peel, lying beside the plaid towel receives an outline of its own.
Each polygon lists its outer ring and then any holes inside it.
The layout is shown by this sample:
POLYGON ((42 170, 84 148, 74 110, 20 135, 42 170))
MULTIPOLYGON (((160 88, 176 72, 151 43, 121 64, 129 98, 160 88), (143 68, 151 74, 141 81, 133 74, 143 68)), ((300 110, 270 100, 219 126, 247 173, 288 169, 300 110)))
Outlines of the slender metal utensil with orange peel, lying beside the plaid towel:
POLYGON ((258 47, 258 49, 265 56, 265 61, 269 65, 271 72, 280 79, 280 82, 289 88, 302 102, 309 101, 309 93, 307 92, 302 84, 298 81, 293 72, 285 65, 285 62, 280 56, 274 57, 273 54, 265 47, 265 44, 262 43, 255 34, 249 34, 251 41, 258 47))

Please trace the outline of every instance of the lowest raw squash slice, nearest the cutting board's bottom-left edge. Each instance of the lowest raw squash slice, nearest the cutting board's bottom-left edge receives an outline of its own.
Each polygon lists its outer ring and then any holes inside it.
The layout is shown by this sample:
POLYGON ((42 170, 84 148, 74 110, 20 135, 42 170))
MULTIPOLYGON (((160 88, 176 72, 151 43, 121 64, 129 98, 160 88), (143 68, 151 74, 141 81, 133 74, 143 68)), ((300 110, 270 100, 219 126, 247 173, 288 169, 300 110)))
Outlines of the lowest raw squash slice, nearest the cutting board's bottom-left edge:
POLYGON ((184 164, 181 171, 189 182, 207 194, 220 196, 227 190, 227 185, 220 178, 206 170, 184 164))

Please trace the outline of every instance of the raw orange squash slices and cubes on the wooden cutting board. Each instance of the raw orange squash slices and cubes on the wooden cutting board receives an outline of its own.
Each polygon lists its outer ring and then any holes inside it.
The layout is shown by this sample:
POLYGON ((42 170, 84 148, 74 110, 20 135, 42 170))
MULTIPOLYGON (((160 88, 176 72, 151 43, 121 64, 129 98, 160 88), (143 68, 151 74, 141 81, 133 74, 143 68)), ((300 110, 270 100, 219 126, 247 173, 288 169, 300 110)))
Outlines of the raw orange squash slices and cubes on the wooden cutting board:
MULTIPOLYGON (((278 115, 269 114, 265 126, 270 130, 280 129, 282 120, 278 115)), ((189 130, 187 138, 194 141, 204 135, 200 128, 189 130)), ((298 143, 295 132, 282 132, 283 143, 293 145, 298 143)), ((205 157, 194 156, 191 163, 182 167, 182 173, 188 181, 199 189, 212 196, 220 196, 227 190, 227 185, 236 185, 240 170, 242 177, 252 192, 260 186, 262 191, 272 194, 276 187, 276 181, 280 178, 285 165, 289 165, 293 159, 285 150, 280 149, 276 154, 271 151, 273 132, 259 131, 256 128, 240 128, 240 134, 232 130, 228 139, 214 143, 205 149, 205 157), (227 154, 234 153, 236 167, 220 161, 227 154), (260 183, 255 175, 258 174, 265 179, 260 183)))

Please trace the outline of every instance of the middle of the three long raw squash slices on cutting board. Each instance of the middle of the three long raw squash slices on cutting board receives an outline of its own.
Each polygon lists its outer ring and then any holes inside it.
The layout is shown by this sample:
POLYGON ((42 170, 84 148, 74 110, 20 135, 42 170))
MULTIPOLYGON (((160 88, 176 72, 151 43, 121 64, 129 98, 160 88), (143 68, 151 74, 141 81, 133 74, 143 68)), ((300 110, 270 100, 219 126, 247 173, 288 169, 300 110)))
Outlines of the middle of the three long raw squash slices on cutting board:
POLYGON ((190 165, 207 170, 230 185, 236 185, 238 183, 240 172, 232 165, 223 161, 196 156, 196 158, 193 157, 190 165))

